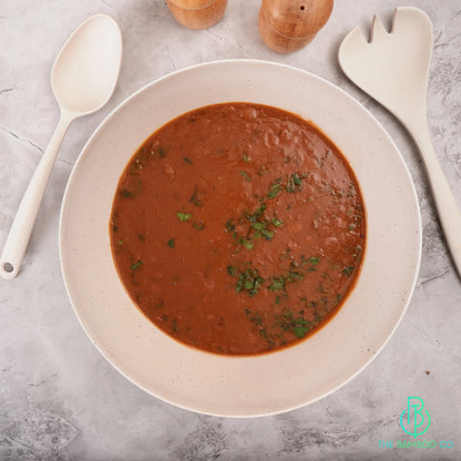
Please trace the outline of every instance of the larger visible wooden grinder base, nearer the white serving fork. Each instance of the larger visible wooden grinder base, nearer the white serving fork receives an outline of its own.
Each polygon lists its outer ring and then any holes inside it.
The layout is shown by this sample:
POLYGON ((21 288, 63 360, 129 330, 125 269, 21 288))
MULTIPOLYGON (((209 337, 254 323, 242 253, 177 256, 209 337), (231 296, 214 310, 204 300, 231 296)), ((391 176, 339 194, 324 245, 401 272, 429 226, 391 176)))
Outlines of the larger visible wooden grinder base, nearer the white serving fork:
POLYGON ((332 3, 334 0, 263 0, 259 33, 274 51, 300 50, 326 24, 332 3))

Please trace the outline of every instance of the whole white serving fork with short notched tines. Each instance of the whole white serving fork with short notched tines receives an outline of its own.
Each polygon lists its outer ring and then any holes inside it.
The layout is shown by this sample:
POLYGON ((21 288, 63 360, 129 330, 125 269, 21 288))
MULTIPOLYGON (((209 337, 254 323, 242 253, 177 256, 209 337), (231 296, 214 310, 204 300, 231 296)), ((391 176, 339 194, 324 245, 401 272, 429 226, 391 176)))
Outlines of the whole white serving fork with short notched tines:
POLYGON ((461 277, 461 209, 432 147, 426 93, 433 37, 429 17, 414 7, 399 7, 391 32, 375 17, 371 41, 352 29, 339 47, 346 75, 392 112, 419 147, 439 212, 447 245, 461 277))

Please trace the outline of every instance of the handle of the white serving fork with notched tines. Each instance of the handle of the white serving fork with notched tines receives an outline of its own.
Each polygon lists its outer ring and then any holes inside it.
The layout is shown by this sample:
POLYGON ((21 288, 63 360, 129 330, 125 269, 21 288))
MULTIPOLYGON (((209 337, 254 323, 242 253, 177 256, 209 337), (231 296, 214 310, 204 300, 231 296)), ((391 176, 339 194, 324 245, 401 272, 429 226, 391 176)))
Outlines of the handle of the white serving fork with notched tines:
MULTIPOLYGON (((426 113, 426 111, 421 111, 421 113, 426 113)), ((461 277, 460 207, 457 204, 453 193, 447 182, 447 177, 437 158, 426 117, 421 116, 419 120, 406 123, 406 125, 421 152, 447 245, 451 253, 454 266, 458 269, 458 275, 461 277)))

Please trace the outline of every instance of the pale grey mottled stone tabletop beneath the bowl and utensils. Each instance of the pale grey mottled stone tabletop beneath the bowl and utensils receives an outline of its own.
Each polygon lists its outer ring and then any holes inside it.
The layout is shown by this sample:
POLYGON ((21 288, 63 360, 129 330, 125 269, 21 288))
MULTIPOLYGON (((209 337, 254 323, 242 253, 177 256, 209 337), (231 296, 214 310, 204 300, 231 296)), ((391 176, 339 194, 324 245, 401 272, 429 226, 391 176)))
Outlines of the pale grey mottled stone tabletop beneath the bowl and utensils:
MULTIPOLYGON (((442 167, 461 204, 461 3, 409 0, 434 23, 429 119, 442 167)), ((124 35, 120 83, 99 113, 72 125, 23 263, 0 279, 0 460, 459 460, 461 459, 461 284, 443 245, 422 164, 403 129, 341 74, 336 52, 375 12, 389 23, 392 0, 338 0, 311 44, 280 55, 257 31, 259 1, 229 0, 206 31, 178 25, 163 0, 0 0, 0 246, 58 120, 50 70, 64 40, 96 12, 124 35), (150 397, 93 348, 68 300, 59 266, 58 223, 76 156, 99 122, 153 79, 226 58, 289 63, 361 101, 386 126, 414 178, 423 256, 407 315, 379 357, 356 379, 309 407, 258 419, 199 416, 150 397), (408 440, 398 418, 408 396, 424 399, 427 440, 444 450, 388 450, 408 440)), ((392 255, 389 255, 392 257, 392 255)))

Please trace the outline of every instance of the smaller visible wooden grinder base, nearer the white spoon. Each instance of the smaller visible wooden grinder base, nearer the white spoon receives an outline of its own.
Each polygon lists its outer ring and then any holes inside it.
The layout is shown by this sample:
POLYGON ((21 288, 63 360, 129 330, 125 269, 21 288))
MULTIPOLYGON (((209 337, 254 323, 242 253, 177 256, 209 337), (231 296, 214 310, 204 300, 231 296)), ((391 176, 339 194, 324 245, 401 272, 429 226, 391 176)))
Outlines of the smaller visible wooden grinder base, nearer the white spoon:
POLYGON ((177 22, 189 29, 207 29, 223 18, 227 0, 166 0, 177 22))

